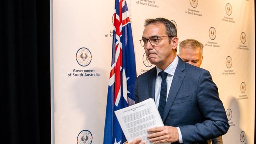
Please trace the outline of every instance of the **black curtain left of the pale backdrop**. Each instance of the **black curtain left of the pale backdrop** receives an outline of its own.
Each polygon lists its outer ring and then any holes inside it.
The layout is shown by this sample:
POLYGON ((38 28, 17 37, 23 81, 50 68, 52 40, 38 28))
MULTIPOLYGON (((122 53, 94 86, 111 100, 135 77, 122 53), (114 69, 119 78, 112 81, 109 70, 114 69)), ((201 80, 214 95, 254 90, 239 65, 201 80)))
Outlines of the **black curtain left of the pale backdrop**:
POLYGON ((50 1, 0 1, 0 143, 50 144, 50 1))

